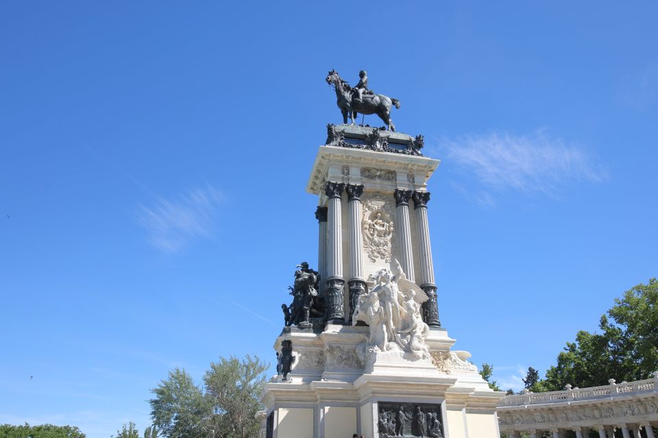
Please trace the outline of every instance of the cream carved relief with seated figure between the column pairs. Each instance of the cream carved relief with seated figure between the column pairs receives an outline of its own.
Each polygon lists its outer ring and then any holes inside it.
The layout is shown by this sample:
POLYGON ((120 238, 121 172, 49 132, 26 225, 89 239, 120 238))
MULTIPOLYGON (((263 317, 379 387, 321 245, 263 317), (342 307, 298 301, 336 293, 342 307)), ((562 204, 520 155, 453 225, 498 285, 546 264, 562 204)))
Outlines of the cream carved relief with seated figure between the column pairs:
POLYGON ((393 220, 391 205, 382 196, 373 196, 363 203, 363 248, 372 262, 391 262, 393 220))

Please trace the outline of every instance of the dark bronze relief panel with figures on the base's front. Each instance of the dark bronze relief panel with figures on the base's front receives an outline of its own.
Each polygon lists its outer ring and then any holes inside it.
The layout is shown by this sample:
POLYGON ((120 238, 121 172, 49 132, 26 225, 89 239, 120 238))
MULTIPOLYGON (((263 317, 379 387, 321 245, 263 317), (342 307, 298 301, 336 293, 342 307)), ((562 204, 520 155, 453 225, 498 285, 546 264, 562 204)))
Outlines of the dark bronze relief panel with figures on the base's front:
POLYGON ((443 437, 441 406, 379 402, 377 428, 381 438, 443 437))

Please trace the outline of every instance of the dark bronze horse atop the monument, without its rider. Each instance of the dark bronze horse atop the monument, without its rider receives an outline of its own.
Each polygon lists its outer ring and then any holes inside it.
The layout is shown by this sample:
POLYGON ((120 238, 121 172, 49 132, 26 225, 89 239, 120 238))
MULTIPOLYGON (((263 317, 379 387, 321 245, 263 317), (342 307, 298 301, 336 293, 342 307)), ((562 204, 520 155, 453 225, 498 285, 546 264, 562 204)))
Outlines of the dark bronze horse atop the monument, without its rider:
POLYGON ((341 79, 336 70, 329 72, 326 81, 336 90, 337 105, 343 114, 343 123, 348 123, 348 114, 352 120, 352 125, 354 125, 354 118, 356 118, 357 113, 377 114, 391 131, 395 131, 395 125, 391 120, 391 107, 395 105, 396 108, 400 109, 398 99, 391 99, 384 94, 364 93, 361 102, 359 102, 354 99, 354 88, 341 79))

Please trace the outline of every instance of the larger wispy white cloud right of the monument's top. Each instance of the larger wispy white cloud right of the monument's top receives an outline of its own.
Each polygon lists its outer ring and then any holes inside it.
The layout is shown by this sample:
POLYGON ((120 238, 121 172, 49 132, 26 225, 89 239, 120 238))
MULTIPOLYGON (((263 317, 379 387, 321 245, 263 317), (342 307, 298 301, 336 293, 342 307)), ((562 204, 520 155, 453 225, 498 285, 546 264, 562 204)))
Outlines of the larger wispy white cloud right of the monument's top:
POLYGON ((585 151, 544 131, 530 136, 468 134, 440 142, 443 155, 463 177, 451 182, 453 188, 482 205, 495 205, 502 192, 557 196, 572 181, 607 178, 605 168, 585 151))

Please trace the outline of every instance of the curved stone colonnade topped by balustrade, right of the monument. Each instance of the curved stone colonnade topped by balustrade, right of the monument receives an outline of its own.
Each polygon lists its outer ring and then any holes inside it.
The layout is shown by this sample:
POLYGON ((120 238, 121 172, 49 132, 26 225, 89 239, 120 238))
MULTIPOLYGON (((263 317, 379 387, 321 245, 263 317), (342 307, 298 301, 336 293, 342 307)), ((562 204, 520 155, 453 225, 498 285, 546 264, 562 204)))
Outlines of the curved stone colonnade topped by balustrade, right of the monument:
POLYGON ((642 381, 589 388, 567 385, 563 391, 533 394, 525 391, 498 402, 500 432, 511 438, 527 433, 531 438, 550 432, 577 438, 655 438, 658 426, 658 372, 642 381), (573 434, 570 434, 573 436, 573 434))

